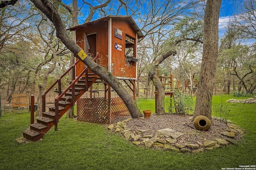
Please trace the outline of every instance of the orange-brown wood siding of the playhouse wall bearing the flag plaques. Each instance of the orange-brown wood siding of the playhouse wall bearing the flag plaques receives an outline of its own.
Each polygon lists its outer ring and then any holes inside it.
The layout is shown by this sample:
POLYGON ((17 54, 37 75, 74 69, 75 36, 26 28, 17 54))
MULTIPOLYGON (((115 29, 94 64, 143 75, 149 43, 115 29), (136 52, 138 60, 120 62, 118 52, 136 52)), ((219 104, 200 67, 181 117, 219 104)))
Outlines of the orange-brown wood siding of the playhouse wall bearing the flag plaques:
MULTIPOLYGON (((136 78, 136 62, 126 63, 125 60, 125 36, 136 39, 136 32, 125 18, 112 18, 112 63, 113 75, 126 78, 136 78), (120 29, 122 39, 114 36, 114 28, 120 29), (122 51, 115 49, 114 45, 122 45, 122 51)), ((134 57, 136 57, 136 44, 134 43, 134 57)))

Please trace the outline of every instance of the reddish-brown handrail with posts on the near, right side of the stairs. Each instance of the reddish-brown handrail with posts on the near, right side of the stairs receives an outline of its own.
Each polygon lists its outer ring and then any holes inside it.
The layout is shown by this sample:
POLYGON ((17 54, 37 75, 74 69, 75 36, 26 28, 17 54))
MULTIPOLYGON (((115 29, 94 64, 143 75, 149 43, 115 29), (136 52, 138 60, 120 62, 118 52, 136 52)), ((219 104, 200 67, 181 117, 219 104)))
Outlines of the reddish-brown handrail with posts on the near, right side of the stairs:
MULTIPOLYGON (((98 59, 98 55, 93 59, 93 61, 95 61, 96 59, 98 59)), ((84 68, 84 70, 78 75, 78 77, 72 81, 72 83, 66 88, 66 90, 64 90, 57 98, 55 98, 55 126, 57 126, 57 123, 59 122, 59 109, 58 109, 59 103, 58 103, 58 101, 60 101, 62 96, 64 96, 64 94, 66 94, 66 92, 68 92, 68 90, 70 90, 70 88, 72 88, 75 85, 75 83, 86 72, 86 70, 88 70, 88 66, 86 66, 84 68)), ((73 106, 74 103, 75 103, 75 88, 72 88, 71 106, 73 106)))

